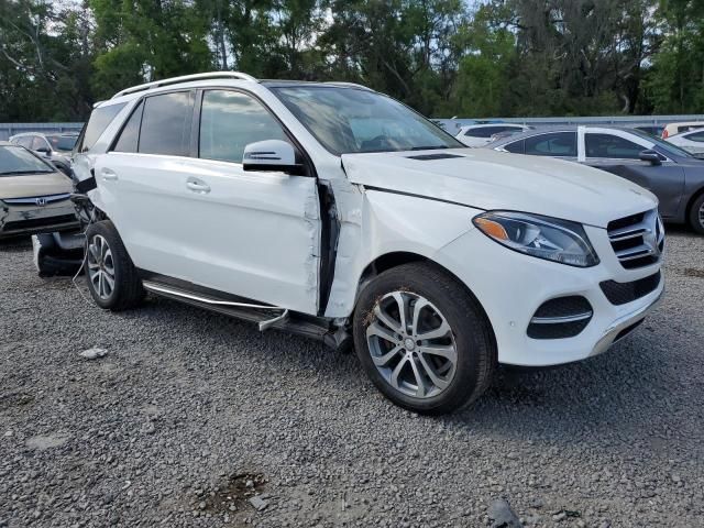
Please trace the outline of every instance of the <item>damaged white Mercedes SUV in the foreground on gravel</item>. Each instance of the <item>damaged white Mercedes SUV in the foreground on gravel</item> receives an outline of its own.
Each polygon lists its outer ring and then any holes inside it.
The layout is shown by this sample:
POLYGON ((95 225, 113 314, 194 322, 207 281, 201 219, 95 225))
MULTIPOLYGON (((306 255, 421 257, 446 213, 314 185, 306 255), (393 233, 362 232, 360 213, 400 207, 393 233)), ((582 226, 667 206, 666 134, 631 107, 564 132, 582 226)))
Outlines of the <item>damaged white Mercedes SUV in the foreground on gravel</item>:
POLYGON ((465 148, 362 86, 180 77, 99 103, 74 160, 101 308, 146 292, 342 346, 418 413, 497 363, 598 354, 660 298, 656 198, 465 148))

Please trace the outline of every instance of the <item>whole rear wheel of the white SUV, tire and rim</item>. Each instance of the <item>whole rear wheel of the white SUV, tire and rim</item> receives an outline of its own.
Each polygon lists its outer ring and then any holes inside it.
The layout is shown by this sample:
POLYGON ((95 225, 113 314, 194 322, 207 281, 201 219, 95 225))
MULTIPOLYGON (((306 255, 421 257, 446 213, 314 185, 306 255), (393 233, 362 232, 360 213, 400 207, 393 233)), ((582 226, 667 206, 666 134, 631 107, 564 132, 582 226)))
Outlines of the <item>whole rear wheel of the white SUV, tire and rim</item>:
POLYGON ((113 311, 138 306, 145 292, 112 222, 91 223, 86 239, 86 280, 96 304, 113 311))

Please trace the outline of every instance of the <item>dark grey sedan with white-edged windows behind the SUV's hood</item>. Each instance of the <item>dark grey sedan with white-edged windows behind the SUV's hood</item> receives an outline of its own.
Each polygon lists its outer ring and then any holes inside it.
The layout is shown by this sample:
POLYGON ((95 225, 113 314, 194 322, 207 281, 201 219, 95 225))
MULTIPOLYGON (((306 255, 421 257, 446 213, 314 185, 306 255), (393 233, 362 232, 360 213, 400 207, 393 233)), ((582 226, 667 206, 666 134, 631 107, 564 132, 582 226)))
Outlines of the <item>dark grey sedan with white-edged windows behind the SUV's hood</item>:
POLYGON ((704 160, 634 129, 563 127, 530 131, 487 145, 503 152, 579 162, 622 176, 660 200, 666 221, 704 234, 704 160))

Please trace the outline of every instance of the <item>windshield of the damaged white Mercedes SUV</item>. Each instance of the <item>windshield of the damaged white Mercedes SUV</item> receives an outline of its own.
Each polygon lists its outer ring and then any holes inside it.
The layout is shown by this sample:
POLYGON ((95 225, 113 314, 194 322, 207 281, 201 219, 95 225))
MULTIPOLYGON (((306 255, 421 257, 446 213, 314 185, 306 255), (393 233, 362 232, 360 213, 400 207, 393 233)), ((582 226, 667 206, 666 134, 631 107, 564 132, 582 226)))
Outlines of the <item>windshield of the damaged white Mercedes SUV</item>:
POLYGON ((336 155, 464 147, 435 123, 381 94, 327 86, 274 87, 272 91, 336 155))

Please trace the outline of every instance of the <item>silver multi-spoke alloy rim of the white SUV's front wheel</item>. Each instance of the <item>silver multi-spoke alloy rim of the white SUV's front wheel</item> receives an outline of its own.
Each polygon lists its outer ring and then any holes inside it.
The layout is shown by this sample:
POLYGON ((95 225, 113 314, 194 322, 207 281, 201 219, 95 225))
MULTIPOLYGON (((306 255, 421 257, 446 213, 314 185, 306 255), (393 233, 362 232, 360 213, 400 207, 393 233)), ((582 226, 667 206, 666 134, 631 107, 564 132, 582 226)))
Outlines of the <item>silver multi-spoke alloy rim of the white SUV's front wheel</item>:
POLYGON ((366 342, 382 377, 400 393, 431 398, 446 391, 457 371, 454 334, 425 297, 392 292, 369 315, 366 342))

